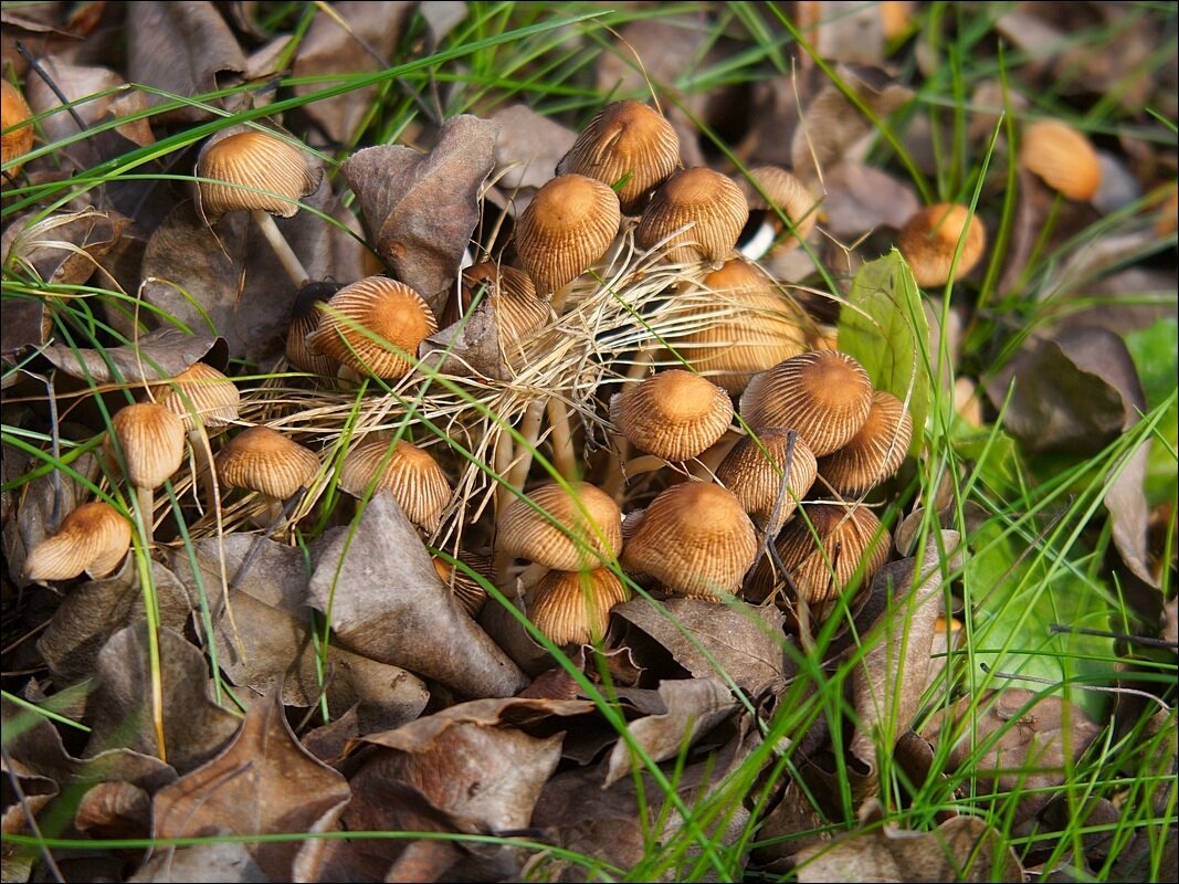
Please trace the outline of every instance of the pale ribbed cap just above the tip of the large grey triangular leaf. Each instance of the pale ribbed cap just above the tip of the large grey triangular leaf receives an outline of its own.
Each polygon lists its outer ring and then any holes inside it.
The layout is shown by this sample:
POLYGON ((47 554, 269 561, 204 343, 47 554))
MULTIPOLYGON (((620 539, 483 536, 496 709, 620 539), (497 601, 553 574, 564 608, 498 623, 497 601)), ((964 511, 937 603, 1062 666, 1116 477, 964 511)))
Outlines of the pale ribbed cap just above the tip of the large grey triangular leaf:
POLYGON ((450 482, 429 451, 403 438, 394 446, 383 433, 368 436, 344 457, 340 487, 362 497, 374 480, 375 488, 393 493, 410 522, 430 532, 439 527, 450 502, 450 482))

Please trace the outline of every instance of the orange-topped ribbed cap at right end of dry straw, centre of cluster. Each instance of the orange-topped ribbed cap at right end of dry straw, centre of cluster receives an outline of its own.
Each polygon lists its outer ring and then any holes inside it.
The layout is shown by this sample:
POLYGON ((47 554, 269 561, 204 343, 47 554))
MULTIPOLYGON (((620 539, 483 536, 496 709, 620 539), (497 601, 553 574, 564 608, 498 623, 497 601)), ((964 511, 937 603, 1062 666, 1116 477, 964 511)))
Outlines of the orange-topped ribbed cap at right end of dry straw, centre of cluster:
POLYGON ((706 450, 732 423, 729 394, 699 375, 667 369, 610 400, 610 420, 635 448, 665 461, 706 450))

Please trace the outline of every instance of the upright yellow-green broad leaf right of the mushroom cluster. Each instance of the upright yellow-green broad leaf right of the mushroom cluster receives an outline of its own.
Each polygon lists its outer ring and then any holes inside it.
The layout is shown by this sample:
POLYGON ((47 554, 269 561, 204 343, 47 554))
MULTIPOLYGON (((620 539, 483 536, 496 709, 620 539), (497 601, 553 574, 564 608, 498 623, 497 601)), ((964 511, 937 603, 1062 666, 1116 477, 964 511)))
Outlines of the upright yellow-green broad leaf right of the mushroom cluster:
POLYGON ((933 395, 929 323, 917 283, 896 249, 856 273, 839 316, 839 349, 859 361, 872 387, 907 404, 913 417, 909 454, 916 456, 926 442, 933 395))

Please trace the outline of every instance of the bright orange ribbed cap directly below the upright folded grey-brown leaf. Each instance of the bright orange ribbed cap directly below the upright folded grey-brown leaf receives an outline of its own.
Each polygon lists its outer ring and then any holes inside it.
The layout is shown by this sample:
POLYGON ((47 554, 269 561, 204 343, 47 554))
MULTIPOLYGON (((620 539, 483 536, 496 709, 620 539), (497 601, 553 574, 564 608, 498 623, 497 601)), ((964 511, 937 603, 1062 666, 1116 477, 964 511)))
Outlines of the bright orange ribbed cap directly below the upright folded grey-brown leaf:
POLYGON ((320 324, 307 336, 311 351, 386 381, 413 371, 417 345, 439 330, 422 296, 384 276, 345 285, 318 309, 320 324))

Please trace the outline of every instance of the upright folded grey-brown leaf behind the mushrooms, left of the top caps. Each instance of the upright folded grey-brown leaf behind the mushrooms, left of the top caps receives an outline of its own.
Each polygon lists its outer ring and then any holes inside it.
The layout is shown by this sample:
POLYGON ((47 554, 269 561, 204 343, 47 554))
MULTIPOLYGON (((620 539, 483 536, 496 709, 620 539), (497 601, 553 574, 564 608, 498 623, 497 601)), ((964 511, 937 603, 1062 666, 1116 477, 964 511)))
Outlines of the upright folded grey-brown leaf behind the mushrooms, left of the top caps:
POLYGON ((498 132, 495 123, 462 114, 443 124, 427 154, 381 145, 357 151, 342 166, 368 240, 435 314, 479 222, 479 192, 494 165, 498 132))

